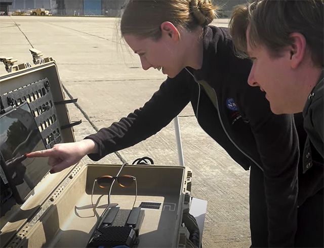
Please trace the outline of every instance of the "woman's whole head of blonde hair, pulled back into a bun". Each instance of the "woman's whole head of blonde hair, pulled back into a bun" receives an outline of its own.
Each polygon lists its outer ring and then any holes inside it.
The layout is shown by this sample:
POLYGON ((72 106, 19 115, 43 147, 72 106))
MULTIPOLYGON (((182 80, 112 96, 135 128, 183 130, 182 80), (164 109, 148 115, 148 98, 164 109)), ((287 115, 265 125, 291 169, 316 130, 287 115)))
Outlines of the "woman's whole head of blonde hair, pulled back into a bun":
POLYGON ((121 35, 158 40, 161 23, 169 21, 177 28, 195 30, 215 18, 218 7, 211 0, 129 0, 120 20, 121 35), (140 13, 140 14, 139 14, 140 13))

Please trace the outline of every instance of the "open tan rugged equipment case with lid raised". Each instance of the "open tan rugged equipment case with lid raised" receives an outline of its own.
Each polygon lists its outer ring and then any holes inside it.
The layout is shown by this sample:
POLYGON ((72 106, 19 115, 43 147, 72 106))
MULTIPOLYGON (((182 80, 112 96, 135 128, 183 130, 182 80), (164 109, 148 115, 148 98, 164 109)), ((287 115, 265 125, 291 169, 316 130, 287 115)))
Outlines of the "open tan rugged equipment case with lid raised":
MULTIPOLYGON (((74 123, 66 104, 75 100, 65 99, 56 62, 50 57, 41 58, 42 53, 37 50, 31 49, 30 52, 33 66, 29 63, 14 65, 17 61, 13 58, 0 58, 9 72, 0 76, 1 108, 28 102, 47 148, 59 142, 74 142, 74 123)), ((107 206, 107 188, 96 186, 94 214, 91 204, 93 182, 103 175, 116 175, 120 166, 75 164, 60 173, 47 174, 23 204, 10 203, 7 199, 2 203, 0 246, 86 247, 107 206)), ((184 219, 188 219, 184 214, 189 212, 194 199, 190 197, 192 173, 189 169, 128 165, 121 175, 132 175, 137 179, 135 206, 141 206, 142 213, 137 247, 194 247, 190 246, 192 242, 188 237, 192 239, 195 234, 183 224, 184 219)), ((114 220, 116 224, 125 222, 134 198, 134 187, 113 185, 111 203, 118 203, 120 208, 114 220)), ((195 212, 200 215, 197 222, 200 223, 198 239, 201 240, 206 204, 200 204, 195 212)))

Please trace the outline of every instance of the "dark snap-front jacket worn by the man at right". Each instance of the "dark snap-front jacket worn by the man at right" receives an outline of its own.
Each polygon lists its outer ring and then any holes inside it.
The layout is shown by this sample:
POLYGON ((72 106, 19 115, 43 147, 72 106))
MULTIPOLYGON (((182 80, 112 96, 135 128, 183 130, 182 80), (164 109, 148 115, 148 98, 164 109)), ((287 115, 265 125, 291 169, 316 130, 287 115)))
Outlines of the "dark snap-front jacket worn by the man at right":
MULTIPOLYGON (((323 140, 324 140, 324 103, 323 89, 324 70, 311 91, 303 109, 304 130, 298 128, 300 151, 303 156, 298 174, 298 204, 302 204, 308 196, 312 196, 324 186, 323 140)), ((295 115, 297 116, 297 115, 295 115)), ((299 117, 300 118, 300 115, 299 117)), ((296 119, 296 122, 301 122, 296 119)))

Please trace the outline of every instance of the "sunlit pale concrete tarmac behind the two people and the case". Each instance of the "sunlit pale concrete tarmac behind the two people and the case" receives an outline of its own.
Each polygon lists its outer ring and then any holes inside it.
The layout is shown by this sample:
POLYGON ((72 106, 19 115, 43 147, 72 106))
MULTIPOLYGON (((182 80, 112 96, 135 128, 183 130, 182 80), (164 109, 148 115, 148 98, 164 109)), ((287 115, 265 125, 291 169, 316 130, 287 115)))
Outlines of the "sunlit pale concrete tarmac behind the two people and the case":
MULTIPOLYGON (((32 64, 29 49, 35 48, 44 57, 56 60, 66 93, 78 98, 79 108, 68 106, 72 120, 83 120, 74 127, 76 141, 95 133, 94 127, 109 127, 143 106, 166 79, 157 70, 141 68, 139 57, 120 40, 118 20, 0 17, 0 56, 14 57, 18 59, 16 64, 32 64)), ((228 19, 213 24, 227 26, 228 19)), ((0 74, 4 73, 4 66, 0 65, 0 74)), ((199 127, 191 105, 179 114, 179 121, 185 166, 193 171, 192 196, 208 200, 203 246, 249 247, 249 172, 199 127)), ((118 154, 129 163, 149 156, 155 164, 177 166, 173 122, 118 154)), ((82 163, 93 161, 86 157, 82 163)), ((121 160, 113 153, 98 163, 121 163, 121 160)))

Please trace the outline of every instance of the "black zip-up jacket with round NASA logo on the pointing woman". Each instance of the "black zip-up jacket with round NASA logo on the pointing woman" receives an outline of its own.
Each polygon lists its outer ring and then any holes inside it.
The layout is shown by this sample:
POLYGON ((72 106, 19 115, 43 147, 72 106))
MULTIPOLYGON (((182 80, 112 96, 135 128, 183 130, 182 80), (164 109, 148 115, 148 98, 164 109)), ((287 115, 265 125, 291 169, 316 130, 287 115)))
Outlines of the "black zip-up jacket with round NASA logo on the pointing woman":
POLYGON ((147 139, 191 102, 201 128, 237 163, 246 170, 255 163, 264 172, 269 246, 293 246, 299 159, 294 118, 273 114, 264 93, 248 85, 251 65, 235 57, 227 28, 205 27, 201 69, 168 77, 142 108, 88 136, 99 146, 89 157, 99 160, 147 139))

